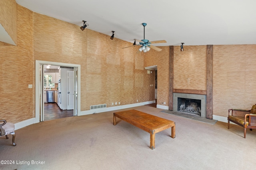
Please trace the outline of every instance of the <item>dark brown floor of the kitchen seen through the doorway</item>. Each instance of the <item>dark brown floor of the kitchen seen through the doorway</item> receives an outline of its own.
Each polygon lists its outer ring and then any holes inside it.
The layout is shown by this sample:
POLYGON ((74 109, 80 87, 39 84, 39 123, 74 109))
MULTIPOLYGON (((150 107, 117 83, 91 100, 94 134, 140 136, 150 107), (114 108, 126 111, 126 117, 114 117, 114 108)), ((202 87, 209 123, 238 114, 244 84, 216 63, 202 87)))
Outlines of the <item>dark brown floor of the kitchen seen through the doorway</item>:
POLYGON ((44 103, 44 121, 74 116, 74 110, 62 110, 56 103, 44 103))

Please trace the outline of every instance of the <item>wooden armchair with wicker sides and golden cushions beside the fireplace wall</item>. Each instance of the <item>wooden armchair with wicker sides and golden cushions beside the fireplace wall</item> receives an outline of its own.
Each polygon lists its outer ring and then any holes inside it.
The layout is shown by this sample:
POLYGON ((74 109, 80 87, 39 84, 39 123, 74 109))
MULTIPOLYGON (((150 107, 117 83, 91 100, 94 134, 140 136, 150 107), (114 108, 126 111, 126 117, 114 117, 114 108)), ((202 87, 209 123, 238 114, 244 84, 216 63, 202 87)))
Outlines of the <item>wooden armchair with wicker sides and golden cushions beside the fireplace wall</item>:
POLYGON ((256 129, 256 104, 251 110, 229 109, 228 110, 228 129, 230 121, 244 127, 244 138, 246 137, 246 129, 256 129))

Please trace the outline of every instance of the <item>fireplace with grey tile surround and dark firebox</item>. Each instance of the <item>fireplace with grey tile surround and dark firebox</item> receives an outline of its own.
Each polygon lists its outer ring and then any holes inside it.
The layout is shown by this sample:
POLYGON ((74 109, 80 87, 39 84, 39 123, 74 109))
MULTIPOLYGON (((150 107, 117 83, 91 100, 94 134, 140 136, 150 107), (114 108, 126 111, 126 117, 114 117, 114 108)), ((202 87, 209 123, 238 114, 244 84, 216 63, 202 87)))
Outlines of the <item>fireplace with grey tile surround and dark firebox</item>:
POLYGON ((173 111, 206 117, 206 95, 173 93, 173 111))

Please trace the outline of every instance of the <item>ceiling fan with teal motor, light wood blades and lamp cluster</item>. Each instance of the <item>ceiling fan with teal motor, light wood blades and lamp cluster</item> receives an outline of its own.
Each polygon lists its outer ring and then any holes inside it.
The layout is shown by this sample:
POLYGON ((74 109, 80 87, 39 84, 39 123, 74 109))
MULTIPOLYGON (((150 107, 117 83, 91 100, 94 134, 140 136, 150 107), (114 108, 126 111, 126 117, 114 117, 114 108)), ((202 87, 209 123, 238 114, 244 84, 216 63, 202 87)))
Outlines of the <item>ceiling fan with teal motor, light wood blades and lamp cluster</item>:
MULTIPOLYGON (((158 40, 158 41, 149 41, 148 39, 145 39, 145 26, 147 25, 147 23, 142 23, 143 27, 144 27, 144 39, 139 40, 139 39, 134 39, 134 43, 131 46, 128 47, 134 47, 135 45, 140 45, 141 47, 139 48, 139 51, 143 51, 144 53, 148 52, 150 50, 150 48, 156 50, 156 51, 161 51, 162 49, 155 47, 154 45, 151 44, 156 44, 156 43, 166 43, 165 40, 158 40), (136 41, 138 41, 140 44, 136 44, 136 41)), ((128 48, 128 47, 124 47, 128 48)))

